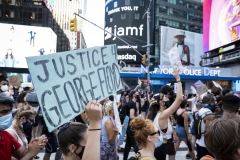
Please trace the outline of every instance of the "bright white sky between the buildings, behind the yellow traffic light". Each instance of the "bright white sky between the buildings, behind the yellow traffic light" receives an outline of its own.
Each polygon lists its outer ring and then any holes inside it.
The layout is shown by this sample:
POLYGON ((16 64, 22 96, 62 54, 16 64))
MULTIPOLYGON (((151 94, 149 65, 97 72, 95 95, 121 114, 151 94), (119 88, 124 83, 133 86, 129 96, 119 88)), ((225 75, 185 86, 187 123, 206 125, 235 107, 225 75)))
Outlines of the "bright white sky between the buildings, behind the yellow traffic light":
MULTIPOLYGON (((104 28, 105 0, 87 0, 86 18, 104 28)), ((86 22, 84 34, 87 47, 102 46, 104 44, 104 31, 86 22)))

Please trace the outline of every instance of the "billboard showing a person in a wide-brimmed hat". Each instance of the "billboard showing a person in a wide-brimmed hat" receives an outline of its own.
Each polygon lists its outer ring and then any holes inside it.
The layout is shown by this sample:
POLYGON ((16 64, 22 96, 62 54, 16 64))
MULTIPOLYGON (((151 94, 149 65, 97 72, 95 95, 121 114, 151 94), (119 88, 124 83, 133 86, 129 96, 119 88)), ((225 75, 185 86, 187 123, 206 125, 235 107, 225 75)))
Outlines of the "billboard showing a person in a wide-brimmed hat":
POLYGON ((161 26, 161 65, 170 66, 168 52, 178 48, 184 66, 199 67, 203 54, 202 34, 161 26))

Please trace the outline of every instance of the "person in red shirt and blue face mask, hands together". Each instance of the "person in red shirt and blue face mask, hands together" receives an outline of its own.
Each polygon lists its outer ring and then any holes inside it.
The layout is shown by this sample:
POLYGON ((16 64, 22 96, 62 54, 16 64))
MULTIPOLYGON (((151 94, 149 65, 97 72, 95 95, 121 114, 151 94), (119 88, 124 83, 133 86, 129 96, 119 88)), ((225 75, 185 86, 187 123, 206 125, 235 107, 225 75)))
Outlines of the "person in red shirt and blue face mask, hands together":
POLYGON ((28 149, 22 147, 6 130, 12 124, 12 106, 14 101, 0 93, 0 157, 10 160, 15 157, 20 160, 32 160, 48 142, 45 135, 32 139, 28 149))

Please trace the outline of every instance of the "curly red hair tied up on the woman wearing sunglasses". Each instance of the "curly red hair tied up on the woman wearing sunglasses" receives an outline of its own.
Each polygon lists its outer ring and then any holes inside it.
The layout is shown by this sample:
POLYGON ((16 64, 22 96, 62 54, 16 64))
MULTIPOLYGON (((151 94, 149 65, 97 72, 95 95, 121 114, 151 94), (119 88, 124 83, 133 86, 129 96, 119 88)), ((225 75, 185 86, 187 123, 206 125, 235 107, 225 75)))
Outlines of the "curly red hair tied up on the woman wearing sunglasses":
POLYGON ((155 132, 155 127, 151 120, 134 118, 130 122, 130 126, 135 131, 135 139, 139 145, 146 147, 147 137, 155 132))

